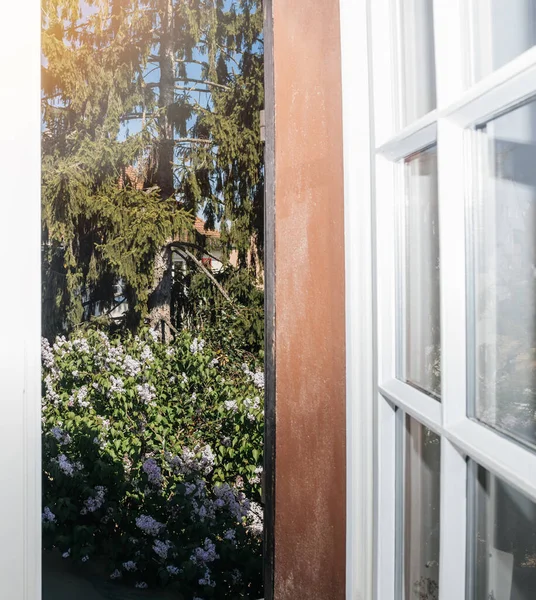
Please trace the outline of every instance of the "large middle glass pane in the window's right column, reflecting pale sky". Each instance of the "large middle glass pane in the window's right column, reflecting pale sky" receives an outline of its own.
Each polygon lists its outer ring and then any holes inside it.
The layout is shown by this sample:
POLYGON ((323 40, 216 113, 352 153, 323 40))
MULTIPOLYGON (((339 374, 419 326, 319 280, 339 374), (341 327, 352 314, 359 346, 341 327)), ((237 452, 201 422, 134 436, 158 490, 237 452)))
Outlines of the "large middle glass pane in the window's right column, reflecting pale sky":
POLYGON ((480 135, 483 182, 472 225, 475 416, 536 443, 536 103, 487 123, 480 135))

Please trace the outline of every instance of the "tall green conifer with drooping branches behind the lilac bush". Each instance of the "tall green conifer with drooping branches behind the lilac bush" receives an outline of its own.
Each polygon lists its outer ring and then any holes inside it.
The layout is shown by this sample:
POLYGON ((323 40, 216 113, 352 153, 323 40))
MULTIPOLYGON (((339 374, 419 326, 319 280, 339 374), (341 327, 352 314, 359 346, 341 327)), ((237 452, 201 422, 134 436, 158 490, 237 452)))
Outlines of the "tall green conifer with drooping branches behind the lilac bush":
POLYGON ((171 243, 204 212, 262 255, 261 0, 44 0, 44 329, 169 321, 171 243))

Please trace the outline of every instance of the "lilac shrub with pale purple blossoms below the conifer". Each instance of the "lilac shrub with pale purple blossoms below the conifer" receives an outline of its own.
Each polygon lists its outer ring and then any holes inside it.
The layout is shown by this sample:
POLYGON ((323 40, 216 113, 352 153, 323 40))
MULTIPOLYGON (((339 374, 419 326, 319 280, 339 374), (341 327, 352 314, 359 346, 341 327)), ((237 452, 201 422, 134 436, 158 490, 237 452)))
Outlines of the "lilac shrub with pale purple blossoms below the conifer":
POLYGON ((43 340, 43 538, 139 588, 262 595, 264 378, 183 332, 43 340))

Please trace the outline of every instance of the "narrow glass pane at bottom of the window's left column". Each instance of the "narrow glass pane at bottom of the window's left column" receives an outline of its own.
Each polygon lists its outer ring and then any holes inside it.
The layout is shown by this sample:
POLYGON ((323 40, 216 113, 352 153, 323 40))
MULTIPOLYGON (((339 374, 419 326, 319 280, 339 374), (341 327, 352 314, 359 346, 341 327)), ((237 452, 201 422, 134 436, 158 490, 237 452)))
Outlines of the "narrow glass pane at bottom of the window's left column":
POLYGON ((439 437, 406 417, 404 600, 439 597, 439 437))

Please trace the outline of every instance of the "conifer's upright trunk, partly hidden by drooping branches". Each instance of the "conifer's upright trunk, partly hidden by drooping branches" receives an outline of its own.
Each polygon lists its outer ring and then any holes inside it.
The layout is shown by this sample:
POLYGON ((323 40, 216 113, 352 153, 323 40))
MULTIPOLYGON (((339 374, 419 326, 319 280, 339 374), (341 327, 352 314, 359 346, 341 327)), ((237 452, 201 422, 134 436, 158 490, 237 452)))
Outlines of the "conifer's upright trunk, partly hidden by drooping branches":
MULTIPOLYGON (((169 107, 175 100, 174 77, 175 63, 173 52, 173 0, 160 0, 160 95, 158 105, 161 108, 159 118, 160 141, 158 145, 157 185, 162 199, 175 193, 173 178, 174 142, 173 124, 169 119, 169 107)), ((163 331, 170 338, 167 323, 171 317, 171 250, 162 248, 155 257, 154 285, 149 298, 149 324, 157 331, 163 331), (161 329, 162 321, 164 328, 161 329)))

